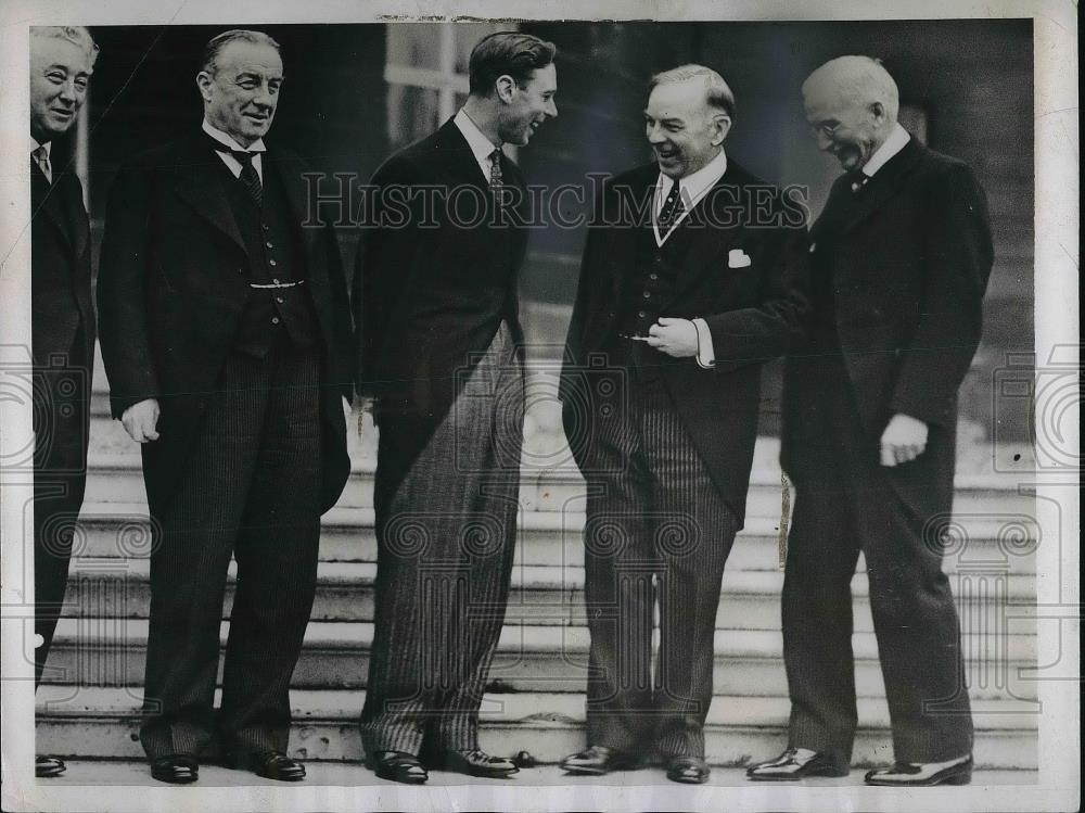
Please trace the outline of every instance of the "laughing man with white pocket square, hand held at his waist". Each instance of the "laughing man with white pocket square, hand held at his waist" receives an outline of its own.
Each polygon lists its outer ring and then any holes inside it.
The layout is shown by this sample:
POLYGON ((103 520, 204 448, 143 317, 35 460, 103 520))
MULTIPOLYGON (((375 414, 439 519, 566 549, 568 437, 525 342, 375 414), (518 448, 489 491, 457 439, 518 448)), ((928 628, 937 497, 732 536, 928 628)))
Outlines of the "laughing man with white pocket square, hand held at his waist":
POLYGON ((761 368, 806 307, 806 231, 801 209, 724 152, 735 98, 715 71, 684 65, 649 89, 655 162, 597 201, 562 370, 565 433, 588 487, 591 635, 589 747, 562 767, 598 775, 654 752, 668 778, 697 784, 709 777, 713 633, 743 523, 761 368))

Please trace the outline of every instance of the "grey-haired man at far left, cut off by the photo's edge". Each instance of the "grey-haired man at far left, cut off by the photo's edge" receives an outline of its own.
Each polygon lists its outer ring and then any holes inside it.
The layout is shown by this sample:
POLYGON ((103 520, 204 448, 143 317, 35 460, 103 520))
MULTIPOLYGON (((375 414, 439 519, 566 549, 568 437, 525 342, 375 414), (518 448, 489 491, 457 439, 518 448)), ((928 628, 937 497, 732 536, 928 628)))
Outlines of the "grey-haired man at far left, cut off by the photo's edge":
MULTIPOLYGON (((30 28, 30 308, 34 342, 34 682, 41 683, 64 604, 72 530, 82 506, 94 368, 90 226, 82 185, 54 140, 87 99, 98 46, 79 26, 30 28)), ((60 776, 38 757, 39 777, 60 776)))

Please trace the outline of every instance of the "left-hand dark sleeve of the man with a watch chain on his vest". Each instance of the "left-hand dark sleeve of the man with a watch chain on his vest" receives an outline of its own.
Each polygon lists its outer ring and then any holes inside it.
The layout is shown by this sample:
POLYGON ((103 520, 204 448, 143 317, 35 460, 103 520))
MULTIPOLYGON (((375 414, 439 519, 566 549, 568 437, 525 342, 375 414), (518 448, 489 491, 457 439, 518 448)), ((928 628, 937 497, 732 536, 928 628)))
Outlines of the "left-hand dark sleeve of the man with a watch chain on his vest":
POLYGON ((98 332, 114 418, 159 394, 146 323, 150 205, 150 174, 122 167, 110 190, 98 274, 98 332))

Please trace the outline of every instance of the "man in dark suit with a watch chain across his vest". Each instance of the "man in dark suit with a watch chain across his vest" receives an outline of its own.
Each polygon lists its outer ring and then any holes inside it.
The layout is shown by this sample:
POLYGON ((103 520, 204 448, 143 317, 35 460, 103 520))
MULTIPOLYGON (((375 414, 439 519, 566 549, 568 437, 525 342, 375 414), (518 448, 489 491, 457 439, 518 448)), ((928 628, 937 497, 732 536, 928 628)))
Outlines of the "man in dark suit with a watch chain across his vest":
POLYGON ((264 144, 278 43, 218 35, 196 85, 202 129, 120 169, 99 281, 113 412, 143 444, 154 532, 140 738, 163 782, 195 780, 216 728, 229 764, 298 780, 305 768, 285 754, 289 686, 320 515, 349 473, 346 283, 332 227, 302 226, 305 163, 264 144))

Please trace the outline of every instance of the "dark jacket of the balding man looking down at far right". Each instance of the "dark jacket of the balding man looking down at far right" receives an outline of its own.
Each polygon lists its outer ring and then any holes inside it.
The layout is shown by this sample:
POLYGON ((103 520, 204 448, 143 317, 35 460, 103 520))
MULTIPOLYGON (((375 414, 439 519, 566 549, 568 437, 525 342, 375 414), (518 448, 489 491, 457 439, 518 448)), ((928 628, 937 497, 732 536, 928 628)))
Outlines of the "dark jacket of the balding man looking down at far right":
POLYGON ((807 427, 821 354, 842 351, 875 442, 897 412, 952 437, 957 389, 980 342, 993 249, 971 169, 912 137, 868 187, 853 192, 852 180, 837 180, 810 231, 813 341, 784 371, 786 468, 801 466, 803 444, 818 440, 807 427), (826 345, 833 332, 839 350, 826 345))

